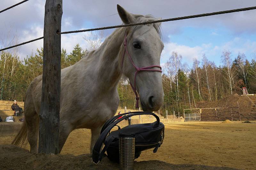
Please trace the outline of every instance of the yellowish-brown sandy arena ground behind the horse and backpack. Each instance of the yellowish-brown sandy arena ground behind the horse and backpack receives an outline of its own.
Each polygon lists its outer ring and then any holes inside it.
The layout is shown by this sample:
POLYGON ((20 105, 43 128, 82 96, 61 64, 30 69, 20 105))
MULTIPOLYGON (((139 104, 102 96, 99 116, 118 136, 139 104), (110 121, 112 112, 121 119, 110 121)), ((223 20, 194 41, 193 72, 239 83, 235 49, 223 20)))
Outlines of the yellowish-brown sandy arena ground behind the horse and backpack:
MULTIPOLYGON (((74 130, 60 154, 90 153, 90 137, 88 129, 74 130)), ((10 144, 14 136, 0 138, 0 145, 10 144)), ((136 160, 256 169, 255 151, 256 123, 173 122, 165 124, 164 143, 158 151, 143 151, 136 160)))

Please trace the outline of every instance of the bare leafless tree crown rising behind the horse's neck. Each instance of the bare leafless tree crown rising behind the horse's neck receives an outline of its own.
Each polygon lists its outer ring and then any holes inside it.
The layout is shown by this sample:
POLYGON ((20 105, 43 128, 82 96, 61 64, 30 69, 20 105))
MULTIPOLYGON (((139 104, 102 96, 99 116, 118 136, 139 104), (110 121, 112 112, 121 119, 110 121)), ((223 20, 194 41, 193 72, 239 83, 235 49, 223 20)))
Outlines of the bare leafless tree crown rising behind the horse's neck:
POLYGON ((104 41, 104 31, 90 31, 87 35, 84 35, 84 40, 88 42, 89 49, 99 48, 104 41))

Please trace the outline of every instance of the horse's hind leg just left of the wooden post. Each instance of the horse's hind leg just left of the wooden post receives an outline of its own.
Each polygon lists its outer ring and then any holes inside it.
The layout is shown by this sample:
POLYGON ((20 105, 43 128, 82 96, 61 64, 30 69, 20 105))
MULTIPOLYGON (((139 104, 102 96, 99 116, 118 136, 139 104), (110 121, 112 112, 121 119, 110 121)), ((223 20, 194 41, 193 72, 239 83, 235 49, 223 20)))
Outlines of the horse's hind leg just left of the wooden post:
POLYGON ((38 153, 37 138, 39 130, 39 117, 36 112, 27 112, 25 114, 30 153, 38 153))

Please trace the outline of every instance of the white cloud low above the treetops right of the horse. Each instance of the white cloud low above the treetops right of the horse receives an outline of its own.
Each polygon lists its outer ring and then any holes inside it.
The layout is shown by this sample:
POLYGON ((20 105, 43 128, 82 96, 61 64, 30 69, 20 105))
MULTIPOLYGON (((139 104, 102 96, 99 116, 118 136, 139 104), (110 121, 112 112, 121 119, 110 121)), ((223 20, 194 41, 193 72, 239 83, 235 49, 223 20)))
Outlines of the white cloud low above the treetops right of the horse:
POLYGON ((220 64, 220 56, 223 50, 229 50, 234 59, 238 52, 244 53, 247 59, 251 60, 251 53, 256 49, 256 41, 250 41, 243 39, 241 37, 235 37, 231 41, 227 41, 220 46, 212 46, 209 44, 201 44, 199 46, 190 47, 181 45, 174 42, 164 43, 164 50, 161 54, 161 65, 167 62, 169 57, 172 55, 172 51, 176 51, 179 55, 182 55, 183 61, 187 62, 189 65, 193 62, 193 58, 199 60, 202 59, 202 54, 204 53, 210 61, 214 61, 217 65, 220 64))

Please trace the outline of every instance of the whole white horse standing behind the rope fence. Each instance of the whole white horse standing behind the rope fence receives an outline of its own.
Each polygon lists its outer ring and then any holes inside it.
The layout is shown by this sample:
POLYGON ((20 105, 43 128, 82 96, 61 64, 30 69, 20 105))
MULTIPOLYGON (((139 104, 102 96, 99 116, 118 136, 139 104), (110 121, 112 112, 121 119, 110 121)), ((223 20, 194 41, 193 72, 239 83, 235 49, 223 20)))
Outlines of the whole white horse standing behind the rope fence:
MULTIPOLYGON (((119 5, 117 11, 124 24, 156 20, 151 15, 131 14, 119 5)), ((92 152, 103 124, 115 115, 118 108, 117 85, 122 74, 132 85, 136 77, 135 88, 144 111, 156 111, 162 106, 164 92, 159 65, 164 44, 159 26, 156 23, 117 28, 98 49, 61 70, 59 151, 72 130, 87 128, 92 132, 92 152), (124 53, 124 37, 129 54, 124 53), (137 73, 131 61, 137 68, 153 65, 150 69, 155 71, 148 69, 137 73)), ((18 145, 27 138, 31 153, 38 153, 41 92, 42 75, 28 87, 24 104, 25 122, 12 142, 18 145)))

